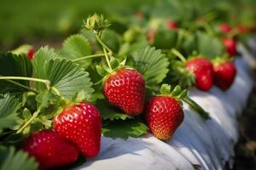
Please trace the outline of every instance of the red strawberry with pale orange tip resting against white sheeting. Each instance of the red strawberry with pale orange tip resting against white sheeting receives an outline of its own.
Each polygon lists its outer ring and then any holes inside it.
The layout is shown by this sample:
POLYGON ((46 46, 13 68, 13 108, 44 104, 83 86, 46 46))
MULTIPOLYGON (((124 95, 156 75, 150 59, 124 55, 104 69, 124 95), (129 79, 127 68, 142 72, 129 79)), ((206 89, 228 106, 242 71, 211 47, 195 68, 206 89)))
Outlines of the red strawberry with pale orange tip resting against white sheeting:
POLYGON ((156 138, 170 139, 183 119, 183 108, 176 99, 169 96, 156 96, 149 99, 146 122, 156 138))

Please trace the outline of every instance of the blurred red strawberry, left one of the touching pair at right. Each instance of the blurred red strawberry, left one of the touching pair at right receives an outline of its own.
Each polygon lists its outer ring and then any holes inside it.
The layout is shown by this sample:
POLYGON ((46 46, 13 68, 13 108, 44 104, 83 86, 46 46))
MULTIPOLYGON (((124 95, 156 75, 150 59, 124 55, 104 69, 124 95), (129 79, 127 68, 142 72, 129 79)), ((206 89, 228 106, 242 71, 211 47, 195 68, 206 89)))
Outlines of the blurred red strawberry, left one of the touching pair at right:
POLYGON ((204 91, 212 88, 212 63, 206 58, 189 59, 186 68, 195 75, 195 86, 204 91))

